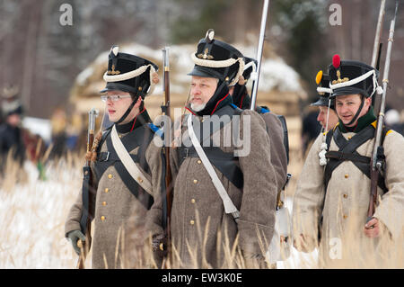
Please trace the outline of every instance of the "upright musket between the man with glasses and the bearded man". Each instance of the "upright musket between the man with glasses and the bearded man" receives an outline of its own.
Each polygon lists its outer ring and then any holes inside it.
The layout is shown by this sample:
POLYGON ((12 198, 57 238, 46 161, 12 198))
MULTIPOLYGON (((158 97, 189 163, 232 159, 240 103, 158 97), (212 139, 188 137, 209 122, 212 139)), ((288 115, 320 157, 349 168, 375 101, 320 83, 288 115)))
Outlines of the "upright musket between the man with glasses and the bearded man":
POLYGON ((162 114, 165 116, 164 121, 164 148, 163 148, 163 163, 164 163, 164 188, 162 198, 162 226, 164 229, 164 236, 167 240, 165 243, 160 244, 160 250, 166 251, 167 254, 168 248, 170 247, 170 239, 171 239, 171 205, 172 205, 172 176, 171 176, 171 168, 170 168, 170 145, 171 145, 171 112, 170 112, 170 61, 169 61, 169 47, 164 47, 162 49, 162 67, 163 67, 163 76, 162 76, 162 94, 164 98, 164 103, 162 105, 162 114), (166 245, 164 247, 164 244, 166 245))

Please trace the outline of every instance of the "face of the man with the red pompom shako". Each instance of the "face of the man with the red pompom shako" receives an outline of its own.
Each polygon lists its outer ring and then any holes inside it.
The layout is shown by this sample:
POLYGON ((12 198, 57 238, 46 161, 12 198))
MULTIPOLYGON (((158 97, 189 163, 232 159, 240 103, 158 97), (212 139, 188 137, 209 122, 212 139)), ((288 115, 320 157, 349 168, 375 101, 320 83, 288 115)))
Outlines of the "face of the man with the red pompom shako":
POLYGON ((359 113, 359 116, 357 117, 356 121, 350 125, 347 125, 355 117, 356 112, 361 105, 361 98, 362 95, 360 94, 345 94, 345 95, 338 95, 335 100, 338 118, 347 127, 356 126, 357 119, 364 116, 364 114, 369 110, 369 107, 372 104, 371 98, 364 98, 364 107, 362 108, 362 111, 359 113))

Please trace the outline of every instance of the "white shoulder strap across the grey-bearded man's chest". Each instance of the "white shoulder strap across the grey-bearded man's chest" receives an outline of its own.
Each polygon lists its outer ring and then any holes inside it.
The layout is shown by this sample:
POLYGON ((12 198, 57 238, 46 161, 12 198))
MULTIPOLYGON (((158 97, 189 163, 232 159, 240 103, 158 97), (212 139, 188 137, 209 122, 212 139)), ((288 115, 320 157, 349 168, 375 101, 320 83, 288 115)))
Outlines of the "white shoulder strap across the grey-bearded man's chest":
POLYGON ((215 173, 215 169, 210 163, 209 159, 206 157, 204 149, 200 146, 200 143, 195 135, 194 129, 192 127, 192 116, 189 115, 188 117, 188 130, 189 130, 189 138, 192 141, 193 146, 197 150, 198 156, 200 157, 203 165, 206 168, 207 173, 209 174, 210 178, 212 179, 212 183, 215 185, 215 189, 217 193, 219 193, 220 197, 222 198, 224 204, 224 212, 232 213, 234 220, 236 222, 239 220, 240 212, 234 206, 232 200, 229 197, 229 194, 224 189, 222 182, 220 181, 219 177, 215 173))

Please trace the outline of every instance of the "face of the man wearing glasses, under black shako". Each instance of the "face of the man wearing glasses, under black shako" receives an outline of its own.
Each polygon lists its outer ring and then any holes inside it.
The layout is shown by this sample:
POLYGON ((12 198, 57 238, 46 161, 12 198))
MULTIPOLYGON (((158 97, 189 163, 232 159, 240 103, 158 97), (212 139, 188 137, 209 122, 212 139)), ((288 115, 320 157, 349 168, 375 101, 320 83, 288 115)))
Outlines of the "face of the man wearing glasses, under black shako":
MULTIPOLYGON (((130 95, 127 92, 122 92, 122 91, 108 91, 107 95, 123 95, 127 96, 130 95)), ((127 108, 130 106, 132 103, 132 98, 129 97, 123 97, 119 98, 118 101, 112 101, 110 98, 107 100, 107 111, 108 111, 108 116, 110 118, 110 121, 112 122, 117 122, 119 119, 124 115, 125 112, 127 112, 127 108)), ((129 121, 132 121, 133 118, 135 118, 136 114, 139 112, 139 105, 141 103, 141 98, 139 97, 137 103, 133 107, 132 111, 127 115, 127 118, 122 121, 122 123, 127 123, 129 121)))

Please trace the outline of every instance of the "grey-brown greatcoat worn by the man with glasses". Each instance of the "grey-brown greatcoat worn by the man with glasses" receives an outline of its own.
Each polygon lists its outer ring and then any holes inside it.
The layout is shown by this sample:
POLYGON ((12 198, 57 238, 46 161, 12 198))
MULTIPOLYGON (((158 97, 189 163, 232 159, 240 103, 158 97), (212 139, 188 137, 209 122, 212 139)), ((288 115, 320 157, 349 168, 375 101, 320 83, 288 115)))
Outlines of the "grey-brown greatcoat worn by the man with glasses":
MULTIPOLYGON (((130 154, 136 155, 138 149, 137 147, 130 151, 130 154)), ((101 146, 101 151, 107 151, 106 142, 101 146)), ((154 140, 146 149, 145 158, 149 173, 145 173, 137 163, 136 165, 151 182, 153 191, 160 191, 162 161, 160 148, 154 144, 154 140)), ((146 243, 148 233, 145 227, 148 211, 130 193, 113 165, 108 167, 100 179, 92 174, 97 190, 93 220, 92 268, 145 268, 145 261, 141 261, 140 256, 143 256, 144 247, 149 247, 146 243)), ((80 230, 82 209, 80 192, 67 217, 66 234, 72 230, 80 230)), ((150 252, 148 251, 149 255, 150 252)))

